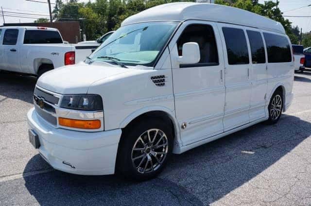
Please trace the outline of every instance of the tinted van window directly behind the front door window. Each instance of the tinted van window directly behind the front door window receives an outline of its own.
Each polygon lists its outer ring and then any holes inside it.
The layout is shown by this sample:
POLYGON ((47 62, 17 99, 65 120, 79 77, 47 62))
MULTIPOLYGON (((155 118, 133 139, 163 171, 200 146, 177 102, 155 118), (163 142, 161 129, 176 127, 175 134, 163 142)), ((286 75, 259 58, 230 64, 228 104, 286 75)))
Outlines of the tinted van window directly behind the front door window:
POLYGON ((248 49, 242 29, 223 27, 229 65, 249 64, 248 49))

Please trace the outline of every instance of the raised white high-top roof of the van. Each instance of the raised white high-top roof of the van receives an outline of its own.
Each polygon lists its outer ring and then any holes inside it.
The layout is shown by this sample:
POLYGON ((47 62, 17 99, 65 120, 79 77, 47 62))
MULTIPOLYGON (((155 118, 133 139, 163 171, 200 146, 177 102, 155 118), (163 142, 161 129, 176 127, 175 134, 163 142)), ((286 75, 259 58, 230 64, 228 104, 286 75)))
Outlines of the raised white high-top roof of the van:
POLYGON ((230 6, 193 2, 175 2, 152 7, 126 18, 121 26, 144 21, 188 19, 239 24, 285 34, 283 26, 270 18, 230 6))

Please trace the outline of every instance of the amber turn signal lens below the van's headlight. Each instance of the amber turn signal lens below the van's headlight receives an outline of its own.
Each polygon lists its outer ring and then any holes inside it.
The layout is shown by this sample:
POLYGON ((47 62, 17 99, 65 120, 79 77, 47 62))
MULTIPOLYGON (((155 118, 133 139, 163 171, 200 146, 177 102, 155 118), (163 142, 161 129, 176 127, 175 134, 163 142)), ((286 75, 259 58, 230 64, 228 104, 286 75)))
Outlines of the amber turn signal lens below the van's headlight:
POLYGON ((65 127, 73 127, 78 129, 99 129, 101 128, 101 120, 74 120, 67 118, 58 118, 59 125, 65 127))

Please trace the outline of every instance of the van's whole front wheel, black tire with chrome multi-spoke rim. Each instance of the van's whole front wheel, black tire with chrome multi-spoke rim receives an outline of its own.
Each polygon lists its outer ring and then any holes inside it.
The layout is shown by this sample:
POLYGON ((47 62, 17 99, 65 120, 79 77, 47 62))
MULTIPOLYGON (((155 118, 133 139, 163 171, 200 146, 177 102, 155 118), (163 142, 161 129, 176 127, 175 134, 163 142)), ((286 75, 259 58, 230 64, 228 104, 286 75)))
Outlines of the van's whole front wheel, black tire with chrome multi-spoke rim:
POLYGON ((165 167, 173 149, 170 124, 162 119, 145 119, 122 135, 118 170, 137 181, 152 179, 165 167))

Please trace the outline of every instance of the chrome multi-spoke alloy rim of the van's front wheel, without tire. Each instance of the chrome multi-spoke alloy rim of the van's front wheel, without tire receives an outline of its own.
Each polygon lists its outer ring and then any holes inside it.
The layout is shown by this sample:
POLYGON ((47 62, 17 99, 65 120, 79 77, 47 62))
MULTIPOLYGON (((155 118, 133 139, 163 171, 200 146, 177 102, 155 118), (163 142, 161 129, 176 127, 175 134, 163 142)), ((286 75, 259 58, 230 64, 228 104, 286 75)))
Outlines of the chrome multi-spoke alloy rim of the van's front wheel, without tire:
POLYGON ((136 140, 132 149, 132 163, 139 173, 158 170, 169 151, 165 133, 159 129, 149 129, 136 140))

